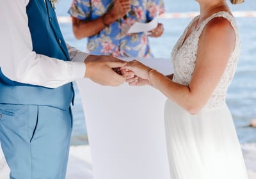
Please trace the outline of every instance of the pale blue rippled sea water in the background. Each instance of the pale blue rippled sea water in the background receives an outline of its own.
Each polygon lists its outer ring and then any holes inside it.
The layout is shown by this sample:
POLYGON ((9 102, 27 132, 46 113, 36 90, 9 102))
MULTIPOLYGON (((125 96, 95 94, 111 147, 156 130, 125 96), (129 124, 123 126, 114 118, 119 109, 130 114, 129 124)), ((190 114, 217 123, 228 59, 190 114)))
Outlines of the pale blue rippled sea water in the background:
MULTIPOLYGON (((69 17, 67 12, 71 3, 72 0, 62 0, 56 4, 58 17, 64 17, 64 19, 69 17)), ((165 0, 164 4, 166 13, 171 14, 169 18, 159 19, 159 22, 164 24, 164 35, 160 38, 150 38, 152 52, 156 58, 170 58, 173 45, 192 18, 188 15, 189 12, 198 12, 199 10, 196 1, 165 0)), ((250 121, 256 119, 256 1, 245 0, 240 5, 230 4, 230 8, 234 12, 239 26, 241 58, 234 80, 228 89, 227 104, 234 118, 240 143, 256 143, 256 128, 250 127, 250 121)), ((85 51, 86 39, 76 40, 74 38, 70 21, 61 21, 60 27, 66 42, 85 51)), ((72 109, 74 130, 71 144, 88 144, 86 119, 84 119, 77 88, 75 105, 72 109)))

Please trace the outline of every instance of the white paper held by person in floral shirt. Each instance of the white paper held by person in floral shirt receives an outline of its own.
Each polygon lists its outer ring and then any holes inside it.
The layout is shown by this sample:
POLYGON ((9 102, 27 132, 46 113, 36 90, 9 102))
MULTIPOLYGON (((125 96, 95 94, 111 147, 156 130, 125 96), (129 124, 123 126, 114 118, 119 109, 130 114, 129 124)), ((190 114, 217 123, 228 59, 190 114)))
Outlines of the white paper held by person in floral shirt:
POLYGON ((157 27, 157 16, 148 23, 135 22, 128 30, 127 33, 140 33, 144 32, 146 35, 150 35, 148 31, 157 27))

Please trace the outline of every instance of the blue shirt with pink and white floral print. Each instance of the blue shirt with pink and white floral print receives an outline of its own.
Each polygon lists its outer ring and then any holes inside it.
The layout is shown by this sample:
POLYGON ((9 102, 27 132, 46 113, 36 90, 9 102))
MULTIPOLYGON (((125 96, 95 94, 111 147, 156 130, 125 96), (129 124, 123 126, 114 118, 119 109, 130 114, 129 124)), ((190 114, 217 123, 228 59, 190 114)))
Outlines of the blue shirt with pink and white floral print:
MULTIPOLYGON (((112 0, 73 0, 68 13, 77 19, 93 20, 108 12, 113 5, 112 2, 112 0)), ((125 18, 116 20, 97 35, 88 38, 87 52, 111 54, 115 57, 153 57, 145 33, 127 34, 126 31, 127 27, 135 22, 150 22, 157 16, 157 12, 164 13, 163 0, 131 0, 131 11, 125 18)))

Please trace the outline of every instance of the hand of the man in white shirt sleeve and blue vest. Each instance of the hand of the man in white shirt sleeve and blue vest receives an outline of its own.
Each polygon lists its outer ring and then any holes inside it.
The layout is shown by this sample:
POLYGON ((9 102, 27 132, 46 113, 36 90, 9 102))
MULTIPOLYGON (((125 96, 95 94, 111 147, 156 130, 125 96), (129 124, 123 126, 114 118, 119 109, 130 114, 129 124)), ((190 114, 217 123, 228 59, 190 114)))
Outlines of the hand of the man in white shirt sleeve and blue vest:
POLYGON ((104 86, 119 86, 125 82, 125 77, 116 73, 115 70, 125 66, 127 63, 113 56, 88 56, 86 73, 84 77, 91 79, 104 86))

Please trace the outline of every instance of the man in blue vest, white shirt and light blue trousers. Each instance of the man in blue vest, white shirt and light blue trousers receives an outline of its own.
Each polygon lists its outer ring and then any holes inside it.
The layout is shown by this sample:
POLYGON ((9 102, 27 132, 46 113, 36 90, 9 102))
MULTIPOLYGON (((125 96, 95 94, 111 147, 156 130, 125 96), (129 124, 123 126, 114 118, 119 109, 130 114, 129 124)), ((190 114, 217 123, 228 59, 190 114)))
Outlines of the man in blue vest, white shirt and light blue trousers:
POLYGON ((64 179, 72 131, 72 82, 118 86, 126 63, 67 45, 54 0, 0 1, 0 141, 15 179, 64 179))

